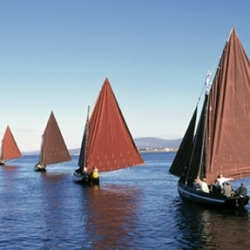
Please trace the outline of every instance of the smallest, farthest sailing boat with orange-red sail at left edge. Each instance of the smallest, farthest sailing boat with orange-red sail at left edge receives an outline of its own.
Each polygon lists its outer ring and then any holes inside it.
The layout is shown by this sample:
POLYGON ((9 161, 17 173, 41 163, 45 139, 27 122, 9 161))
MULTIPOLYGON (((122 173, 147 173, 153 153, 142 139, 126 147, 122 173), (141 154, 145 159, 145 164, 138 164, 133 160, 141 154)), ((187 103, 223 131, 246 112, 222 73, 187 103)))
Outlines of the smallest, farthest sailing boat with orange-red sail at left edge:
POLYGON ((17 146, 10 127, 7 126, 2 140, 0 165, 4 165, 5 161, 7 160, 12 160, 20 157, 22 157, 22 154, 17 146))

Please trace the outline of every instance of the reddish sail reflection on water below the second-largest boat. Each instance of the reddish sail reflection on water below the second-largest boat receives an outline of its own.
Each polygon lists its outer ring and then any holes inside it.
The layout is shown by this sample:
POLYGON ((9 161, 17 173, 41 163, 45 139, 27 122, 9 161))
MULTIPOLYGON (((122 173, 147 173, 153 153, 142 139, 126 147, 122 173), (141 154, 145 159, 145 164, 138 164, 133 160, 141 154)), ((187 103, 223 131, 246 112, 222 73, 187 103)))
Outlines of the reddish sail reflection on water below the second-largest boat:
POLYGON ((93 186, 87 190, 86 231, 93 249, 120 249, 132 244, 135 230, 138 190, 121 185, 93 186))

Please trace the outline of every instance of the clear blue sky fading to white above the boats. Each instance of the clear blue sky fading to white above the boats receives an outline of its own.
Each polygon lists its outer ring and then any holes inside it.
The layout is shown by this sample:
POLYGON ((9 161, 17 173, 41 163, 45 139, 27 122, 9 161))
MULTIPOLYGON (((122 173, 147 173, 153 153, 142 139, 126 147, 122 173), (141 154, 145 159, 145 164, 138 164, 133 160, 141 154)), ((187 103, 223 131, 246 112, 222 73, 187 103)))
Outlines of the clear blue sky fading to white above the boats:
POLYGON ((80 147, 108 76, 133 137, 183 136, 234 26, 250 56, 250 2, 0 1, 0 137, 40 148, 53 111, 80 147))

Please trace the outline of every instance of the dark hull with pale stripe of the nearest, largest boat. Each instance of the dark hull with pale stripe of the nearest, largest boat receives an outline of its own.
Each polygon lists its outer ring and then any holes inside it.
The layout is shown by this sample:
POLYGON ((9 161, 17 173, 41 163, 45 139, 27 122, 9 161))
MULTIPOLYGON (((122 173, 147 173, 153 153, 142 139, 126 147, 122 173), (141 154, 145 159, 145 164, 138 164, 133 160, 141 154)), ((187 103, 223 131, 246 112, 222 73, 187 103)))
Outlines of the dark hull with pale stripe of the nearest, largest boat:
POLYGON ((178 192, 183 201, 205 205, 206 207, 218 207, 224 209, 240 209, 248 204, 249 197, 232 196, 227 198, 221 194, 196 191, 181 182, 178 183, 178 192))

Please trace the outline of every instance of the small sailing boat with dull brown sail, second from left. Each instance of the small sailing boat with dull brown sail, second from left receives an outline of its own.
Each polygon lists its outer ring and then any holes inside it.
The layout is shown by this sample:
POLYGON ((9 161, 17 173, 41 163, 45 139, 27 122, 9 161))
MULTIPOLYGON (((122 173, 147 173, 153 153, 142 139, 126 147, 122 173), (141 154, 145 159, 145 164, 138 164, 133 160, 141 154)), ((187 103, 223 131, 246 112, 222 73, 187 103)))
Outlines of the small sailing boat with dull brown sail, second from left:
POLYGON ((34 170, 45 172, 47 165, 66 161, 71 161, 71 156, 63 140, 54 113, 51 112, 42 136, 39 163, 34 166, 34 170))

